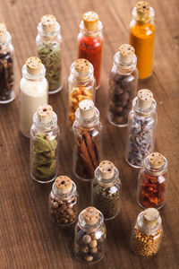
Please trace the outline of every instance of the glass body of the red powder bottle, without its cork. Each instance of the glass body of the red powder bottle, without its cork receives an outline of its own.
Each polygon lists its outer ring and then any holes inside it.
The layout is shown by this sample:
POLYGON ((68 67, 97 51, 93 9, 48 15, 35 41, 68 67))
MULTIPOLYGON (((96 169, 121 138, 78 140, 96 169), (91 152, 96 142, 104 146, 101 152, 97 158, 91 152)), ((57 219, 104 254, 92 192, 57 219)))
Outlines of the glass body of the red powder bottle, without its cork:
POLYGON ((78 35, 79 58, 85 58, 94 67, 94 75, 96 79, 96 89, 100 86, 100 73, 102 64, 103 51, 103 25, 98 22, 98 30, 87 30, 83 21, 80 23, 80 33, 78 35))

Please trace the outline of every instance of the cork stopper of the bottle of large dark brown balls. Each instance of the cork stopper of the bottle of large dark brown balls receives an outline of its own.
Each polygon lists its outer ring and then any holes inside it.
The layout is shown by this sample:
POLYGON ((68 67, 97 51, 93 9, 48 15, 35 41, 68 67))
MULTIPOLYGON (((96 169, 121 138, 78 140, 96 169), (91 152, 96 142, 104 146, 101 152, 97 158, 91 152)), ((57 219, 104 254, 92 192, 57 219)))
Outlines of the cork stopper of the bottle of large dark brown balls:
POLYGON ((132 62, 135 49, 129 44, 123 44, 119 47, 120 60, 123 64, 129 64, 132 62))

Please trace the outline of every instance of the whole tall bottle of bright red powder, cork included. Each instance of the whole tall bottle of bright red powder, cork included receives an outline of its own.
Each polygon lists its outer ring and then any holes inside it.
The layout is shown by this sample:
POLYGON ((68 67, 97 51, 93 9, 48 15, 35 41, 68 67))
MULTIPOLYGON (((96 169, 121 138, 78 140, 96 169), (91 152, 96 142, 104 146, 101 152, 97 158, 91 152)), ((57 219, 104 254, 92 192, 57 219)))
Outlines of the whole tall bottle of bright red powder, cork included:
POLYGON ((102 62, 103 48, 103 25, 99 21, 98 14, 94 12, 84 13, 80 23, 79 58, 85 58, 90 61, 94 67, 96 78, 96 90, 100 86, 100 70, 102 62))

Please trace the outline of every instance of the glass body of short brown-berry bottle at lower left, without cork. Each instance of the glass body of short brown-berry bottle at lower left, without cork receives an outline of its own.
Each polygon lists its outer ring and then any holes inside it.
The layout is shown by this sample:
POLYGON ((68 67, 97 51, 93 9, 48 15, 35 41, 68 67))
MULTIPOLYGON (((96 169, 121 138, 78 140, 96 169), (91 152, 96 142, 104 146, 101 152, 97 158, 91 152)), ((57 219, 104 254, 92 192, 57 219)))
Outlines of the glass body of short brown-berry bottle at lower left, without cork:
POLYGON ((50 220, 62 226, 71 225, 78 216, 78 193, 76 185, 72 182, 72 190, 67 194, 62 194, 53 184, 49 195, 49 217, 50 220))

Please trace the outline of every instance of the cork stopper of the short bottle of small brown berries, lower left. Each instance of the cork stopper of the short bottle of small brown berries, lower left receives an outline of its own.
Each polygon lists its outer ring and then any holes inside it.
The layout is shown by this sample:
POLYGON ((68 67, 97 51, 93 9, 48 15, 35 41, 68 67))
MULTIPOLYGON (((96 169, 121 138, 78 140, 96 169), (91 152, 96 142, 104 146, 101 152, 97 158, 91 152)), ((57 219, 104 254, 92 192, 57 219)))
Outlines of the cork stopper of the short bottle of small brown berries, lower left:
POLYGON ((55 178, 55 187, 62 194, 67 194, 72 190, 72 180, 66 176, 59 176, 55 178))

